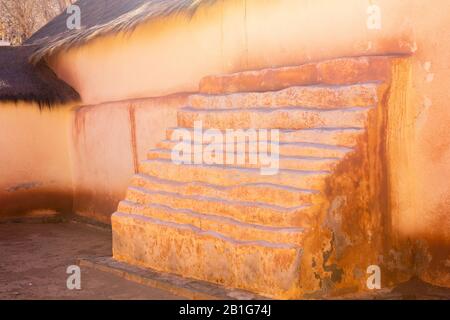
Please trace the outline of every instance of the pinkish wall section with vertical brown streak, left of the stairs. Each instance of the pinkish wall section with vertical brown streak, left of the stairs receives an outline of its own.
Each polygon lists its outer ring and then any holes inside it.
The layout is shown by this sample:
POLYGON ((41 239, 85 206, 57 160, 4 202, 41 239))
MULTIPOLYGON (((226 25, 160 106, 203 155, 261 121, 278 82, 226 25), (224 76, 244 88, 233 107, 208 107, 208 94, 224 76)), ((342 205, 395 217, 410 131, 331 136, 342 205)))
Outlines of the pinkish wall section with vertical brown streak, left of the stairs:
POLYGON ((85 106, 73 115, 73 211, 110 224, 139 161, 176 126, 185 95, 85 106))

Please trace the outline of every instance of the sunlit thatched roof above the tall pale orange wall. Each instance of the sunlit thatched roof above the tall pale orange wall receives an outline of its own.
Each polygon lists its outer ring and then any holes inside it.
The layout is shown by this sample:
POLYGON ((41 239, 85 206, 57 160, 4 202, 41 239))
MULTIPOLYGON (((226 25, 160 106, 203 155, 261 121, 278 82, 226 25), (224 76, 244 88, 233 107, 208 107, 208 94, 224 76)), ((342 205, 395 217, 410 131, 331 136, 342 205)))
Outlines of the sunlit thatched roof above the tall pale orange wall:
POLYGON ((175 14, 193 15, 203 5, 219 0, 79 0, 81 29, 68 30, 67 14, 53 19, 26 43, 36 44, 32 56, 36 63, 61 49, 78 46, 98 36, 132 31, 139 24, 175 14))

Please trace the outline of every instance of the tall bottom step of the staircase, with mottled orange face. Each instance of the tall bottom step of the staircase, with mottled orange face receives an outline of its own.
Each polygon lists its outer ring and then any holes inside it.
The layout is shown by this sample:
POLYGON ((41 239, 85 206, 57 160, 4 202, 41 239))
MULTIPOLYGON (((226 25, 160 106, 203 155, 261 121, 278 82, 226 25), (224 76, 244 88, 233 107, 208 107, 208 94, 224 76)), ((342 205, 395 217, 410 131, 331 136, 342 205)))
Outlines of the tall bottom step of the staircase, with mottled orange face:
POLYGON ((114 259, 259 292, 294 298, 299 291, 302 250, 267 241, 239 241, 186 224, 116 212, 114 259))

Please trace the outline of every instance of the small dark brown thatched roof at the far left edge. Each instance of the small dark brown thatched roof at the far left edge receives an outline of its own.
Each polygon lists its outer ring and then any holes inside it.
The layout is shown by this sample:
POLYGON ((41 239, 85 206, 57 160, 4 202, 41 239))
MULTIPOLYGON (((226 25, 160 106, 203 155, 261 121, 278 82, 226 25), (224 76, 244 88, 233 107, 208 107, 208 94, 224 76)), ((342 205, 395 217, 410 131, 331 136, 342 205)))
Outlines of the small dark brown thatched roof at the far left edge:
POLYGON ((79 94, 45 64, 32 65, 33 46, 0 47, 0 101, 26 101, 40 107, 79 101, 79 94))

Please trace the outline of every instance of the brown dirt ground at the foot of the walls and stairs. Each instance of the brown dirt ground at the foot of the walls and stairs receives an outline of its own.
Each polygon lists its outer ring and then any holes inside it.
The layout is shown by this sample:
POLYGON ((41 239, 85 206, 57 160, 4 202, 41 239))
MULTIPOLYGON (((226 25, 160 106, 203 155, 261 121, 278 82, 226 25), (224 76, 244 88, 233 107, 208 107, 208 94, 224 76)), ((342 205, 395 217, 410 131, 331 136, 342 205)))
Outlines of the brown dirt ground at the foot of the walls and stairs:
MULTIPOLYGON (((81 290, 67 289, 67 267, 83 257, 111 256, 111 231, 80 222, 0 223, 0 299, 183 299, 91 268, 81 290)), ((342 299, 445 299, 450 289, 413 279, 372 296, 342 299)))

